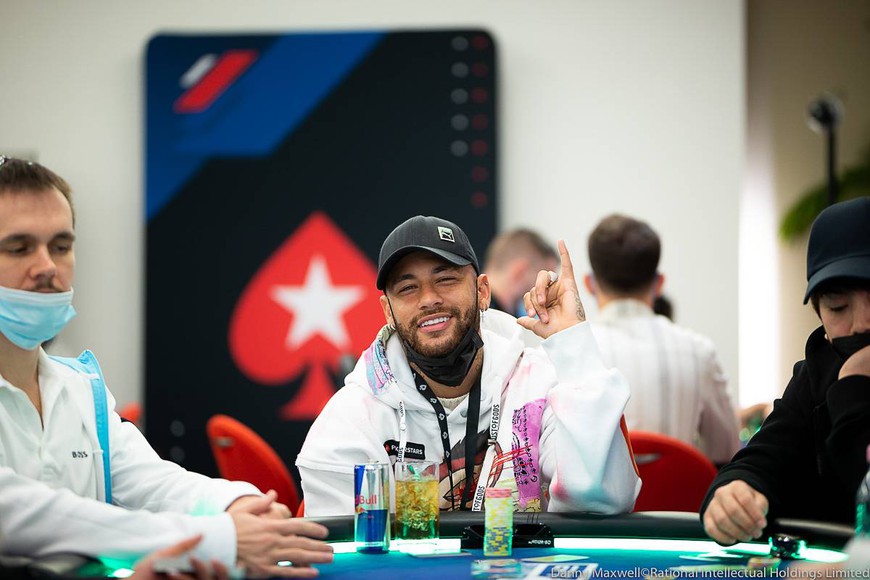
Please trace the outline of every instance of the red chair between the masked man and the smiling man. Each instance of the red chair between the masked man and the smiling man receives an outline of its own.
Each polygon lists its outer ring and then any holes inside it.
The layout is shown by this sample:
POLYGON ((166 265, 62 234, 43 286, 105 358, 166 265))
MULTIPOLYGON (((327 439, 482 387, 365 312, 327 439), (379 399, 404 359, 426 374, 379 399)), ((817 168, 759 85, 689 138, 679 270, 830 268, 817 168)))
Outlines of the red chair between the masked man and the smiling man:
POLYGON ((247 481, 260 491, 274 489, 278 501, 295 514, 299 491, 287 466, 272 446, 245 424, 227 415, 214 415, 206 433, 221 477, 247 481))

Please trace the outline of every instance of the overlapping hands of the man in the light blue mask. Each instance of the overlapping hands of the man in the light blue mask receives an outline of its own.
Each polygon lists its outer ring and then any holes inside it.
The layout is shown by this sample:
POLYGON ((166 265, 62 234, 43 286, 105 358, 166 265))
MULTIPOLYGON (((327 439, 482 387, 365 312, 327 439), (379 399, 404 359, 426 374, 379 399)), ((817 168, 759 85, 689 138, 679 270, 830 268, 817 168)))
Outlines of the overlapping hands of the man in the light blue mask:
POLYGON ((318 571, 311 564, 332 562, 332 546, 323 541, 329 534, 325 526, 304 518, 263 518, 259 508, 229 512, 236 526, 238 566, 248 576, 312 578, 318 571), (282 561, 293 565, 278 566, 282 561))

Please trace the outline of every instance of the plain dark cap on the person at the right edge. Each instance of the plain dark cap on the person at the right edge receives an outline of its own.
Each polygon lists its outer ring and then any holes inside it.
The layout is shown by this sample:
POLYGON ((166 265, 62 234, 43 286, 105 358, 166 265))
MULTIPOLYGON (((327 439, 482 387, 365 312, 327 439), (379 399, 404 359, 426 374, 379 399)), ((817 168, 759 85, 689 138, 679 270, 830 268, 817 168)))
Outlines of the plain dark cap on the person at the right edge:
POLYGON ((835 203, 813 222, 804 304, 832 278, 870 280, 870 197, 835 203))

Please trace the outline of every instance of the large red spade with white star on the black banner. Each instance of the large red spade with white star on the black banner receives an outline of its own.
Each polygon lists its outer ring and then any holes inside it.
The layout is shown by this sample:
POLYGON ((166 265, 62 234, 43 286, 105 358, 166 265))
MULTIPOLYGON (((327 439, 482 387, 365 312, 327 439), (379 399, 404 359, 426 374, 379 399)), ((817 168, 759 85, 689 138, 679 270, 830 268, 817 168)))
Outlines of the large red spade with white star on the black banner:
POLYGON ((384 323, 375 267, 324 213, 313 213, 248 282, 230 319, 239 370, 261 385, 302 385, 280 410, 310 420, 335 392, 342 356, 359 354, 384 323))

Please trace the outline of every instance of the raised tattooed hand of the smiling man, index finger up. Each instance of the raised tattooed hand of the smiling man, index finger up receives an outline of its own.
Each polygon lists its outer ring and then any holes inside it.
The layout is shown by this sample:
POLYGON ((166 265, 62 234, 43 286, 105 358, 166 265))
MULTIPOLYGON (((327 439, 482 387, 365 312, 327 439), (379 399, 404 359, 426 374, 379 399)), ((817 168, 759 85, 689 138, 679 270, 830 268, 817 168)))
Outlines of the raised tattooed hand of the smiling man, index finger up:
POLYGON ((559 240, 559 256, 562 260, 560 274, 541 270, 535 285, 523 295, 523 304, 528 316, 517 323, 540 336, 547 338, 586 320, 580 292, 574 278, 574 266, 563 240, 559 240), (535 318, 537 316, 537 318, 535 318))

